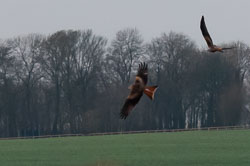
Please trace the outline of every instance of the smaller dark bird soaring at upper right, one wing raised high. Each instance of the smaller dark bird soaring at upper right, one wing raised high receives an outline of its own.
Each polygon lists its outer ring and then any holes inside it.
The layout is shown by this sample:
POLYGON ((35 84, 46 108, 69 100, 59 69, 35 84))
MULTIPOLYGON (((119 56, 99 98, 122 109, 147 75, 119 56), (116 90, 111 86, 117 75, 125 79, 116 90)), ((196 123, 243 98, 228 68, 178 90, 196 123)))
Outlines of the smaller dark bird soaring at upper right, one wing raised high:
POLYGON ((234 48, 234 47, 227 47, 227 48, 224 47, 223 48, 223 47, 218 47, 218 46, 213 44, 212 38, 210 37, 210 35, 207 31, 204 16, 201 17, 200 28, 201 28, 202 35, 205 38, 207 45, 209 47, 208 51, 210 51, 210 52, 216 52, 216 51, 223 52, 223 50, 234 48))

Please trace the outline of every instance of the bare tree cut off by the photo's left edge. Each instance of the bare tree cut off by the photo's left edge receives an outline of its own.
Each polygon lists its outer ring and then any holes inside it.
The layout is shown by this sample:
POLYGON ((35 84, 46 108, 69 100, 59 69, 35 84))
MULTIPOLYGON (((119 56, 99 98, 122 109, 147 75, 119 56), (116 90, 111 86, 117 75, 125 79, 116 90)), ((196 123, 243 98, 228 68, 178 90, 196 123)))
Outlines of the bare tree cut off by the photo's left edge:
POLYGON ((18 101, 14 86, 14 66, 11 48, 6 43, 0 45, 0 131, 1 136, 18 135, 18 101))

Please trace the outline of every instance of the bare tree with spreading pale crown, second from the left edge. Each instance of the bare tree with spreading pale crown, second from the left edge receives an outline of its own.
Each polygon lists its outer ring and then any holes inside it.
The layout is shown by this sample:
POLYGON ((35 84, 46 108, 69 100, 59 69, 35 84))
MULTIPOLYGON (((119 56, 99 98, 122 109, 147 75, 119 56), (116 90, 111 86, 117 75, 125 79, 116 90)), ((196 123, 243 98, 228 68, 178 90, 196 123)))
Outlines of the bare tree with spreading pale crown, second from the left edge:
POLYGON ((25 37, 17 37, 9 40, 14 62, 15 76, 23 94, 23 119, 22 132, 24 135, 37 135, 38 112, 36 110, 36 99, 33 95, 36 91, 38 81, 42 78, 41 68, 38 63, 43 36, 31 34, 25 37))

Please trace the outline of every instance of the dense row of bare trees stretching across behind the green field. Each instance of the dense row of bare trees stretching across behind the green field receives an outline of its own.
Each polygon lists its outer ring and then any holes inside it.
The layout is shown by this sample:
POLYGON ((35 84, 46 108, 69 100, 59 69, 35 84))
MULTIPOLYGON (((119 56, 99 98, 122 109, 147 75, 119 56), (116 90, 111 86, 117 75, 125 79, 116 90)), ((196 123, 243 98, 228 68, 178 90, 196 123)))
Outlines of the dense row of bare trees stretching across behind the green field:
POLYGON ((183 34, 143 41, 124 29, 30 34, 0 44, 0 136, 172 129, 246 122, 250 48, 208 53, 183 34), (155 100, 119 119, 140 62, 155 100))

